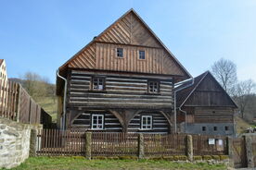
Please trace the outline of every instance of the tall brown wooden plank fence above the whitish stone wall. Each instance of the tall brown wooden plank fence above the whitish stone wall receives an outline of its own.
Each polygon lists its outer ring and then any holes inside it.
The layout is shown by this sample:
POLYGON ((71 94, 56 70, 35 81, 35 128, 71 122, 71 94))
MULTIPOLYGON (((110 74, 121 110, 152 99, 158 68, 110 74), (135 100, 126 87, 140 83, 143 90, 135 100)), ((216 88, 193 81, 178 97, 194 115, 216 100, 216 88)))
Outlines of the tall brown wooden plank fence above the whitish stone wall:
POLYGON ((43 123, 42 116, 50 115, 32 100, 19 83, 0 79, 0 117, 21 123, 39 124, 43 123))

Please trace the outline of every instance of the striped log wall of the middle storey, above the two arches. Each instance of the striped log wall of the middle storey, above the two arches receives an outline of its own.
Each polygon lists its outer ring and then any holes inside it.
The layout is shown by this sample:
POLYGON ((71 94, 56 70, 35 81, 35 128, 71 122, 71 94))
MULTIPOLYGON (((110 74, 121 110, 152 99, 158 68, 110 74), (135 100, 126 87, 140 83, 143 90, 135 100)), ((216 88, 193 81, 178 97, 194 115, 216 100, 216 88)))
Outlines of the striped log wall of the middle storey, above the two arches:
POLYGON ((142 75, 106 74, 72 70, 68 83, 68 107, 83 108, 173 108, 173 79, 142 75), (105 91, 92 91, 91 79, 105 79, 105 91), (147 92, 147 80, 160 82, 160 93, 147 92))

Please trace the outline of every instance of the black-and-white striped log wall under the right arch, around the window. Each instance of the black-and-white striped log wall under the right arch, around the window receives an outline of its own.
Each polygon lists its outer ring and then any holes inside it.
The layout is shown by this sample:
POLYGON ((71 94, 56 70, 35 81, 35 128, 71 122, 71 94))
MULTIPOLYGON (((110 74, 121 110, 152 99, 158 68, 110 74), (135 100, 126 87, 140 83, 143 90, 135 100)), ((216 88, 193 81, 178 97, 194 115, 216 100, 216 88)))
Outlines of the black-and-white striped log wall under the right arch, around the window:
POLYGON ((170 125, 164 115, 158 112, 142 112, 134 116, 128 126, 128 132, 141 132, 141 133, 168 133, 170 125), (152 115, 153 125, 150 130, 141 129, 141 116, 152 115))

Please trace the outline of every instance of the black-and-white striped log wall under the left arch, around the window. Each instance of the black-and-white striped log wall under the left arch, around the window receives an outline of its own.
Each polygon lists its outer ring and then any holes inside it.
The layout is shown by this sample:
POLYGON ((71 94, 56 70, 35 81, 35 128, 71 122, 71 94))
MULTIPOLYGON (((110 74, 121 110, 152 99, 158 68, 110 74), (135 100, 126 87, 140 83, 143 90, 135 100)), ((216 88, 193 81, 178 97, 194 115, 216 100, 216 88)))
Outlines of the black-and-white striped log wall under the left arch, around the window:
MULTIPOLYGON (((72 122, 71 128, 81 128, 92 130, 92 115, 100 114, 104 115, 104 131, 106 132, 122 132, 122 126, 115 115, 112 115, 109 112, 84 112, 74 119, 72 122)), ((99 130, 96 130, 99 131, 99 130)))

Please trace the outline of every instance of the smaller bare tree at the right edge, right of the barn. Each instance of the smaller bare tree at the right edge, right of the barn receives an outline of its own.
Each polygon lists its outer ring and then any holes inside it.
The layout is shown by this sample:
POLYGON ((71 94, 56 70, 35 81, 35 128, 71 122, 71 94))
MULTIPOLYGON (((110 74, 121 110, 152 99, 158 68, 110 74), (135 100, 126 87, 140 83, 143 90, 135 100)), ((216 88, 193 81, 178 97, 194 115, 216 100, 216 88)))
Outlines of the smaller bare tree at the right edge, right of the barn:
POLYGON ((245 110, 253 97, 254 89, 255 83, 251 79, 240 81, 236 85, 234 99, 238 104, 242 118, 245 118, 245 110))

